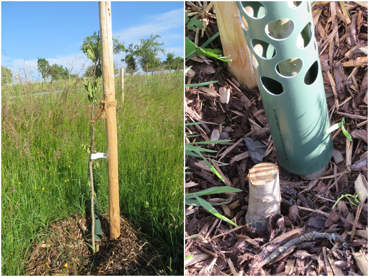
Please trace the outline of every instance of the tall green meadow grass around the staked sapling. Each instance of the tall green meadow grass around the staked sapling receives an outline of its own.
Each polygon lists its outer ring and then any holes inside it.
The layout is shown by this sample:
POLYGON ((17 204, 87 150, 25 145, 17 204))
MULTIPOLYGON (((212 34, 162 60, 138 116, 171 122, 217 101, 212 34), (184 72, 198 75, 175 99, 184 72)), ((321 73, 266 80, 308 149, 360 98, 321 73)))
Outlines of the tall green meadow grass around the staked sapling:
MULTIPOLYGON (((115 82, 120 211, 150 237, 157 270, 175 275, 183 275, 182 76, 125 76, 124 103, 115 82)), ((82 82, 1 90, 1 272, 24 275, 42 231, 68 215, 89 213, 89 155, 81 144, 91 143, 91 107, 82 82), (66 89, 34 95, 40 88, 66 89)), ((95 128, 95 150, 106 153, 105 121, 95 128)), ((103 213, 107 161, 99 164, 94 181, 103 213)))

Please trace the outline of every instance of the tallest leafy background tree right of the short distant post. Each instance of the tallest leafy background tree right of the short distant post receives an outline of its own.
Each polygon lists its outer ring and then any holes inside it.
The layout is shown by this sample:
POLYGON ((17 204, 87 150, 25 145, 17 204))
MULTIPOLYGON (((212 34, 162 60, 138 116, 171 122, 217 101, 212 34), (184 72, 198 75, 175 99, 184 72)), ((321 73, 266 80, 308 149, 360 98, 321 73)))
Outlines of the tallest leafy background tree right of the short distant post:
POLYGON ((150 35, 147 40, 141 39, 140 45, 135 45, 134 53, 137 56, 138 63, 143 71, 146 71, 146 75, 149 71, 154 71, 154 66, 158 63, 158 54, 162 52, 165 54, 165 50, 160 48, 164 45, 164 42, 156 41, 157 38, 161 38, 160 35, 150 35))

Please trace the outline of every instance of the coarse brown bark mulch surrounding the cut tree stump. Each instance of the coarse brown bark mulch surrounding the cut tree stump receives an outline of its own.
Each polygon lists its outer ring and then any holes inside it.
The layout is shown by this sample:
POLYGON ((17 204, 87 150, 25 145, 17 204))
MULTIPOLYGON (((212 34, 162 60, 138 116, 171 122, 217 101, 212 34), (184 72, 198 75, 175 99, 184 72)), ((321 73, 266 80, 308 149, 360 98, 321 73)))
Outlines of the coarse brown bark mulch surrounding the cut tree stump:
MULTIPOLYGON (((197 45, 218 32, 212 5, 186 2, 189 17, 205 26, 186 28, 186 37, 197 45)), ((193 255, 185 261, 186 275, 368 275, 368 57, 359 49, 368 49, 368 2, 314 2, 312 10, 330 121, 346 116, 352 143, 341 130, 332 133, 334 154, 323 177, 306 180, 287 172, 277 164, 258 89, 239 84, 226 62, 201 55, 189 59, 186 66, 193 71, 186 84, 218 82, 186 88, 186 122, 203 122, 187 126, 201 136, 186 142, 214 139, 212 133, 218 134, 215 139, 231 139, 203 147, 217 151, 206 157, 227 163, 213 164, 227 185, 243 192, 202 196, 223 203, 214 208, 238 228, 201 206, 186 205, 185 256, 193 255), (230 90, 228 104, 220 102, 222 89, 230 90), (255 165, 245 137, 261 141, 267 147, 263 162, 279 168, 281 214, 262 234, 245 223, 247 175, 255 165), (358 207, 342 198, 332 209, 341 195, 360 191, 358 207)), ((206 48, 222 49, 220 38, 206 48)), ((224 186, 201 158, 186 156, 186 166, 192 172, 186 175, 186 193, 224 186)))

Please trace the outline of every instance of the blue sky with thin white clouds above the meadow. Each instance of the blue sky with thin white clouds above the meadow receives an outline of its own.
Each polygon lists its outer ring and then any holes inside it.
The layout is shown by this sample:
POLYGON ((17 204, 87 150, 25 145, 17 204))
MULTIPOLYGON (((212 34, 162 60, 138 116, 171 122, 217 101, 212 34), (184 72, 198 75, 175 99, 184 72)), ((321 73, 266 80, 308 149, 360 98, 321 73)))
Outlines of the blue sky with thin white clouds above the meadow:
MULTIPOLYGON (((125 47, 150 34, 159 34, 162 47, 183 57, 183 1, 112 1, 113 37, 125 47)), ((1 2, 1 65, 24 76, 25 69, 34 79, 37 58, 58 64, 81 75, 89 65, 80 51, 83 39, 99 31, 98 2, 1 2)), ((125 53, 114 54, 120 62, 125 53)), ((162 60, 164 55, 159 56, 162 60)))

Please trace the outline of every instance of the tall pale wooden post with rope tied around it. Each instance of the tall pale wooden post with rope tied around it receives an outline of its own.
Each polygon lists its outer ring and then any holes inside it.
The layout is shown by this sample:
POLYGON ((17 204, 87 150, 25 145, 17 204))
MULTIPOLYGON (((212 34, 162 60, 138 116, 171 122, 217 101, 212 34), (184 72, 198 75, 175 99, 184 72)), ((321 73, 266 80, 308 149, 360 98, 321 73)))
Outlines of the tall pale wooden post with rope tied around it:
POLYGON ((109 179, 109 226, 110 239, 120 236, 117 119, 115 117, 115 89, 113 63, 113 35, 111 31, 110 1, 99 2, 101 61, 103 72, 104 101, 106 102, 106 134, 109 179))

